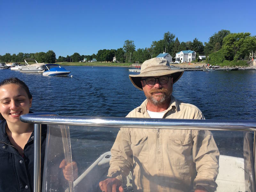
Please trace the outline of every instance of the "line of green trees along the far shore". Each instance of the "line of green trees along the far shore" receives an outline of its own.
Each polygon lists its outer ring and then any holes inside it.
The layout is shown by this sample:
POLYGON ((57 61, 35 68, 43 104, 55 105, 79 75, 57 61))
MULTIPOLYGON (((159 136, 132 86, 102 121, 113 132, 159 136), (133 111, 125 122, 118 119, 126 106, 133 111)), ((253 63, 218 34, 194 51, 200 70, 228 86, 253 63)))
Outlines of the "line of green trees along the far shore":
MULTIPOLYGON (((193 50, 196 52, 196 56, 206 55, 209 56, 209 63, 219 64, 225 60, 249 60, 250 53, 256 51, 256 37, 251 36, 250 33, 230 33, 229 30, 220 30, 214 33, 208 42, 201 42, 197 38, 193 41, 180 42, 178 37, 169 31, 164 33, 163 39, 159 41, 153 41, 150 47, 138 48, 135 50, 135 44, 132 40, 126 40, 123 47, 115 49, 103 49, 99 50, 97 54, 92 55, 80 55, 74 53, 73 55, 67 55, 66 57, 59 56, 56 59, 56 55, 52 50, 48 52, 39 53, 18 53, 11 55, 6 53, 0 55, 0 60, 5 62, 23 62, 26 58, 36 59, 38 62, 55 63, 57 62, 79 62, 86 58, 87 61, 96 59, 101 62, 113 61, 113 57, 116 57, 117 62, 121 63, 134 63, 139 61, 140 63, 150 58, 156 57, 159 53, 169 53, 172 57, 175 57, 177 52, 183 50, 193 50)), ((198 60, 198 58, 196 58, 198 60)), ((208 61, 208 60, 207 60, 208 61)))

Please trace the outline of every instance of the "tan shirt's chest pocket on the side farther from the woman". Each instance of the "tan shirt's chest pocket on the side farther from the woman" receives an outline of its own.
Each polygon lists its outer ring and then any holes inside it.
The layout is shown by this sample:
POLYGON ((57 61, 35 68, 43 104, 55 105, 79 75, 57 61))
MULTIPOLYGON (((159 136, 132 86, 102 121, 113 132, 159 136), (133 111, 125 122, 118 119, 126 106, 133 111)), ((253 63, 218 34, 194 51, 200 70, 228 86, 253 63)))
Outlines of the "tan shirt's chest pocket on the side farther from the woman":
POLYGON ((191 134, 169 136, 168 146, 173 166, 180 167, 193 162, 191 134))

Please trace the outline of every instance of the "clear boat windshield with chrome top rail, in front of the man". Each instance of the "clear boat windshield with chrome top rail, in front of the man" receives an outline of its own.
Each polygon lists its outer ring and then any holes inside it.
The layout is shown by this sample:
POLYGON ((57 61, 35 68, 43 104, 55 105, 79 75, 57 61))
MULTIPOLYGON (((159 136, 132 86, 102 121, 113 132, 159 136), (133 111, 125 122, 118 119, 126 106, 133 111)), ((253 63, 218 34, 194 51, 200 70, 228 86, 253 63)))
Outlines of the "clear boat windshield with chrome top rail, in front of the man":
MULTIPOLYGON (((21 120, 28 122, 23 117, 24 115, 21 120)), ((165 119, 56 116, 53 124, 52 118, 40 116, 42 123, 49 123, 44 170, 42 170, 44 172, 43 192, 101 191, 99 182, 108 178, 109 161, 114 155, 111 154, 110 149, 121 127, 121 130, 129 136, 122 136, 121 140, 116 140, 116 145, 113 147, 116 150, 115 159, 112 165, 116 168, 116 164, 120 163, 117 153, 120 152, 119 155, 122 158, 127 157, 132 149, 134 158, 127 158, 128 162, 124 162, 121 158, 121 163, 130 165, 132 169, 127 172, 124 167, 120 168, 127 173, 123 183, 125 191, 133 191, 134 186, 139 186, 142 191, 145 187, 154 191, 159 186, 177 191, 184 191, 189 187, 193 189, 195 187, 193 181, 196 180, 196 175, 202 167, 206 167, 207 170, 203 173, 202 183, 208 183, 208 180, 211 180, 211 174, 208 173, 211 169, 216 173, 217 178, 213 178, 213 180, 216 179, 218 186, 216 191, 255 191, 256 121, 170 119, 165 121, 165 119), (182 132, 181 138, 180 132, 182 132), (214 151, 215 146, 211 146, 209 139, 207 142, 204 139, 201 140, 202 137, 199 135, 205 133, 210 133, 209 137, 213 135, 217 151, 214 151), (152 135, 155 137, 150 138, 152 135), (121 149, 126 152, 124 153, 121 149), (220 156, 217 154, 218 150, 220 156), (201 161, 205 158, 205 154, 207 158, 201 161), (72 177, 75 177, 73 178, 75 180, 67 182, 64 179, 62 169, 59 168, 63 159, 68 163, 76 162, 78 178, 74 174, 72 177), (218 162, 219 168, 212 163, 212 159, 213 162, 218 162), (152 164, 152 161, 155 163, 152 164), (187 171, 192 178, 190 180, 187 175, 183 175, 183 172, 187 171), (209 178, 207 178, 208 175, 209 178), (140 180, 138 177, 141 177, 140 180), (187 185, 186 181, 180 180, 182 177, 187 178, 192 184, 187 185)), ((33 121, 39 122, 35 119, 33 121)))

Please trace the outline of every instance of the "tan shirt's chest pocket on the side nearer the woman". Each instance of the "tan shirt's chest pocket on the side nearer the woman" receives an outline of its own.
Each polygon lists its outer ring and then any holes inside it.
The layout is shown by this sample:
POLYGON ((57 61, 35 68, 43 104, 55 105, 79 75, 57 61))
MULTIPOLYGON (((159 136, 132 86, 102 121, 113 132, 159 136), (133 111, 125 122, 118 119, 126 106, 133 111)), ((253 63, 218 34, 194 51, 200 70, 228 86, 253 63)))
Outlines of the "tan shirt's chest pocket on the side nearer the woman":
MULTIPOLYGON (((148 136, 131 136, 131 149, 134 157, 137 157, 143 164, 148 164, 149 148, 148 136)), ((134 158, 133 157, 133 158, 134 158)))

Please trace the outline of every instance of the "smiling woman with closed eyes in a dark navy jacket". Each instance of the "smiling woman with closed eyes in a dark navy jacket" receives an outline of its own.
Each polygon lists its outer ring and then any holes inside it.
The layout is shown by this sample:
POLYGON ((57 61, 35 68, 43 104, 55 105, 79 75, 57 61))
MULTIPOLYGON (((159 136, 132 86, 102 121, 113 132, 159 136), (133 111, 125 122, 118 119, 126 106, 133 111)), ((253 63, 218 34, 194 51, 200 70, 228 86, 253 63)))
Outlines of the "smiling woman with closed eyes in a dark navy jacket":
MULTIPOLYGON (((23 123, 20 116, 29 113, 32 95, 28 86, 18 78, 0 83, 0 191, 33 191, 34 136, 33 124, 23 123)), ((46 125, 42 125, 41 170, 44 167, 46 125)), ((74 179, 77 166, 73 162, 74 179)), ((64 177, 70 180, 71 164, 60 164, 64 177)), ((43 174, 41 172, 41 183, 43 174)))

